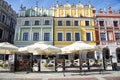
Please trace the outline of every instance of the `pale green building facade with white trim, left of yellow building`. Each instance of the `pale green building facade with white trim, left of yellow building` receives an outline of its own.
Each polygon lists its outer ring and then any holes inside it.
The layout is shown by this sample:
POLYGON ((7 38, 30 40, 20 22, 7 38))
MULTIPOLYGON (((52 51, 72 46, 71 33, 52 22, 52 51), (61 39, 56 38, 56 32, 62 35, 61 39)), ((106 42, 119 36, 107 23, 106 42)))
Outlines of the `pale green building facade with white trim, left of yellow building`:
POLYGON ((46 16, 47 12, 37 5, 33 9, 21 6, 14 39, 16 46, 24 47, 38 41, 53 45, 53 17, 46 16))

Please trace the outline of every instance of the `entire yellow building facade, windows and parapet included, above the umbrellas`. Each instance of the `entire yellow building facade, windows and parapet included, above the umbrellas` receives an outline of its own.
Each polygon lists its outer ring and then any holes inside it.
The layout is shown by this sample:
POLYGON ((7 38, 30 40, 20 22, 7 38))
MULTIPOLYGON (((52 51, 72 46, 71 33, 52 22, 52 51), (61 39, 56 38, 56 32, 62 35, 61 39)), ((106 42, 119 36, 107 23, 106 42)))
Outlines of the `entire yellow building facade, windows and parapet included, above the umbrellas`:
POLYGON ((89 4, 57 4, 54 8, 54 45, 62 47, 75 41, 96 45, 93 10, 89 4))

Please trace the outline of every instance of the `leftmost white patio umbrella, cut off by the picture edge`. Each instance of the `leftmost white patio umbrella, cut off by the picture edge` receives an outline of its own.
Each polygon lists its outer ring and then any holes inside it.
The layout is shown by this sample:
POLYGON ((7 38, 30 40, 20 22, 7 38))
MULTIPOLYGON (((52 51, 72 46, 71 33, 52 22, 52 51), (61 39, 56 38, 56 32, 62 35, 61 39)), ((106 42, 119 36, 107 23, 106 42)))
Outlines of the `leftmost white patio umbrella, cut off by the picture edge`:
POLYGON ((0 54, 10 54, 17 51, 18 47, 14 46, 13 44, 10 44, 8 42, 0 43, 0 54))

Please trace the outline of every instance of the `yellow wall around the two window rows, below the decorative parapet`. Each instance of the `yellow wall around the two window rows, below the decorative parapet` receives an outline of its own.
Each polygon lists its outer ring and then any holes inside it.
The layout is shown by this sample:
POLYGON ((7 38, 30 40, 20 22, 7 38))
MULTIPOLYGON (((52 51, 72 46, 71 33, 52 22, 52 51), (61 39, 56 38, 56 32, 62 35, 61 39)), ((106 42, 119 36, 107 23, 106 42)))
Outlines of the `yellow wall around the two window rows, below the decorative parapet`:
POLYGON ((90 32, 92 36, 92 41, 87 42, 89 44, 95 45, 95 29, 94 29, 94 19, 89 19, 89 18, 77 18, 79 22, 79 26, 74 26, 74 21, 76 21, 76 18, 55 18, 54 22, 54 45, 55 46, 66 46, 70 45, 71 43, 75 42, 75 32, 80 33, 80 39, 81 41, 86 41, 86 32, 90 32), (85 26, 85 20, 90 21, 90 26, 85 26), (63 26, 58 26, 58 21, 61 20, 63 23, 63 26), (66 26, 66 20, 71 21, 71 26, 66 26), (62 32, 63 33, 63 41, 57 41, 57 33, 62 32), (71 33, 71 41, 66 41, 66 32, 71 33))

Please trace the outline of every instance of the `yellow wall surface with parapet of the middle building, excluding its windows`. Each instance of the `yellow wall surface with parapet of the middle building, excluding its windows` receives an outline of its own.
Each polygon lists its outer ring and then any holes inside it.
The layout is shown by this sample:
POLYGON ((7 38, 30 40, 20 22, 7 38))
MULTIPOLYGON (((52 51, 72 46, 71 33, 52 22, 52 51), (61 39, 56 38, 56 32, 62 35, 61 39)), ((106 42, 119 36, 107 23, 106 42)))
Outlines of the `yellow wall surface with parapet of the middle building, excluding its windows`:
POLYGON ((54 45, 66 46, 75 42, 75 32, 80 33, 80 40, 86 41, 86 32, 92 33, 92 41, 87 43, 95 45, 95 29, 93 19, 93 8, 88 5, 60 5, 54 9, 54 45), (59 13, 58 13, 59 12, 59 13), (70 17, 66 17, 69 15, 70 17), (83 17, 80 17, 82 15, 83 17), (58 20, 62 21, 62 26, 58 26, 58 20), (66 26, 66 20, 71 21, 71 26, 66 26), (78 20, 79 26, 74 26, 74 21, 78 20), (89 26, 85 26, 85 21, 90 21, 89 26), (57 41, 57 33, 63 33, 63 41, 57 41), (66 32, 71 32, 72 40, 66 41, 66 32))

